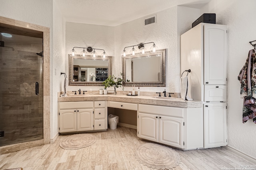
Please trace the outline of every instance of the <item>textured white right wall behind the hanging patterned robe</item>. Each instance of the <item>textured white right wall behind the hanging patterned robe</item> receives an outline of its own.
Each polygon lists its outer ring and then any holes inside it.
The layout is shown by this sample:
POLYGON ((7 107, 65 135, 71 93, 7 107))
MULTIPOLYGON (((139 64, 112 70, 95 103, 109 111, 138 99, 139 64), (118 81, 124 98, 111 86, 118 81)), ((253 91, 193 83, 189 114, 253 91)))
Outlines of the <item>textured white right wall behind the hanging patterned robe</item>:
POLYGON ((243 99, 237 77, 246 62, 249 41, 256 40, 255 0, 214 0, 201 13, 216 13, 216 23, 228 25, 228 145, 256 158, 256 124, 242 123, 243 99))

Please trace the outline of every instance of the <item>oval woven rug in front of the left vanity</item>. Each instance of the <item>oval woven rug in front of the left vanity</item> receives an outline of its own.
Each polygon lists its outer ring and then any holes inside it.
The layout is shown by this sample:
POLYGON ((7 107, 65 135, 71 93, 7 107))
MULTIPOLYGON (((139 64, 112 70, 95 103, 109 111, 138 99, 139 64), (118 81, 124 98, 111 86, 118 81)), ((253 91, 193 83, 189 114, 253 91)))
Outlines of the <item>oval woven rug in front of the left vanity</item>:
MULTIPOLYGON (((64 137, 63 137, 64 138, 64 137)), ((70 135, 59 142, 63 149, 75 150, 88 147, 96 142, 96 136, 89 133, 70 135)))

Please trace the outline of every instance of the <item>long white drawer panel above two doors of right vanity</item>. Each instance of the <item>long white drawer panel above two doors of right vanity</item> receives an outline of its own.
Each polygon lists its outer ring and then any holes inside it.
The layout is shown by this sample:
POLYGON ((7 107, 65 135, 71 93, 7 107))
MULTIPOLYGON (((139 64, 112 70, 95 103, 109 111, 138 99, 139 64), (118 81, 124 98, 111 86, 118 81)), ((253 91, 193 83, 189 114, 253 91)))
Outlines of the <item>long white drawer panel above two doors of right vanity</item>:
POLYGON ((184 109, 179 107, 139 104, 139 112, 184 117, 184 109))

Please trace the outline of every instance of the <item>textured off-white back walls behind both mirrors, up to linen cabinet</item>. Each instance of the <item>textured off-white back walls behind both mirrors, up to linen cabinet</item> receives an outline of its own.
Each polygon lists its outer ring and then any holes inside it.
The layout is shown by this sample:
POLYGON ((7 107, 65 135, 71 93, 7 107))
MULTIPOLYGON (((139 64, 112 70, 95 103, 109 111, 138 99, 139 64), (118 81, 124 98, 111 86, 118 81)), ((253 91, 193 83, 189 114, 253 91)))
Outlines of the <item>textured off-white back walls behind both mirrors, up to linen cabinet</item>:
MULTIPOLYGON (((66 23, 66 73, 68 73, 68 53, 73 47, 102 48, 113 58, 113 74, 122 72, 122 51, 124 47, 139 43, 154 42, 159 49, 167 49, 166 87, 140 87, 146 92, 180 92, 180 35, 191 28, 193 17, 198 17, 200 10, 176 6, 156 14, 156 23, 144 26, 145 16, 116 27, 66 23), (191 15, 178 16, 191 12, 191 15), (181 20, 178 22, 178 18, 181 20), (105 37, 103 39, 103 37, 105 37), (110 53, 110 54, 109 54, 110 53), (112 54, 111 54, 112 53, 112 54)), ((150 49, 152 44, 145 45, 150 49)), ((135 47, 138 52, 138 46, 135 47)), ((131 48, 127 48, 130 51, 131 48)), ((76 49, 80 53, 80 49, 76 49)), ((97 52, 97 51, 96 51, 97 52)), ((84 86, 68 86, 68 90, 78 90, 84 86)), ((98 90, 99 86, 86 86, 85 90, 98 90)), ((121 90, 121 89, 118 89, 121 90)), ((132 90, 125 86, 124 90, 132 90)))

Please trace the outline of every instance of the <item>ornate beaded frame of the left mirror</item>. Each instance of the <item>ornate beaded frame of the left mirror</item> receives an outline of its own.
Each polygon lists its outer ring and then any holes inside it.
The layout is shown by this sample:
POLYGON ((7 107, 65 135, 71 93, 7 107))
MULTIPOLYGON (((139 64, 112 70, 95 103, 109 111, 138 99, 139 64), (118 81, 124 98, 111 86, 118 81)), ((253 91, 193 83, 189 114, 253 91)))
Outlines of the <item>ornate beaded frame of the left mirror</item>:
MULTIPOLYGON (((102 82, 73 82, 73 59, 91 59, 91 60, 103 60, 101 56, 96 56, 95 58, 90 57, 90 55, 86 55, 85 57, 83 57, 82 55, 68 55, 68 70, 69 70, 69 76, 68 76, 68 84, 70 86, 103 86, 102 82)), ((112 75, 112 56, 108 56, 106 57, 106 59, 104 60, 108 60, 108 76, 112 75)))

